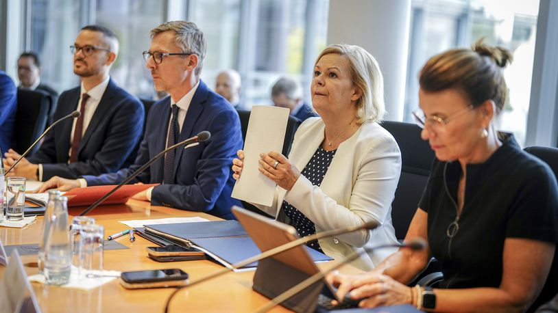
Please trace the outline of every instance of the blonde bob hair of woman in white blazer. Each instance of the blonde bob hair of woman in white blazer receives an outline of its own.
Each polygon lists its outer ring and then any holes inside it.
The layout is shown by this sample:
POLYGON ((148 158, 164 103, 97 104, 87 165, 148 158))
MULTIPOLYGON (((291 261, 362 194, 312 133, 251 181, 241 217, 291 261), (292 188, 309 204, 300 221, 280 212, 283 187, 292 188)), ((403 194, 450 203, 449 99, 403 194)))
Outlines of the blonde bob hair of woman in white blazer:
POLYGON ((318 55, 315 63, 328 54, 341 55, 349 61, 352 84, 361 92, 361 98, 356 100, 356 122, 382 120, 385 114, 384 79, 376 59, 360 46, 332 44, 318 55))

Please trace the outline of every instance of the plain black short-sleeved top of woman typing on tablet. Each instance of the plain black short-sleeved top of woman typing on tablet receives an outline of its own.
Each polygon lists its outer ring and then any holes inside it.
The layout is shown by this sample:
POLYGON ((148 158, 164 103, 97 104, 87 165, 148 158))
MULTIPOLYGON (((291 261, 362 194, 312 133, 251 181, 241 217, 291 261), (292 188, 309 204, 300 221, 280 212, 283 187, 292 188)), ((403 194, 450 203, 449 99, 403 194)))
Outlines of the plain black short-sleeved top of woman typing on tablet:
MULTIPOLYGON (((558 187, 546 163, 522 151, 513 135, 500 133, 502 146, 485 163, 467 165, 459 230, 450 224, 457 209, 462 174, 459 162, 433 163, 420 208, 428 213, 428 244, 444 273, 441 288, 500 286, 504 241, 508 237, 558 242, 558 187)), ((555 255, 535 305, 558 292, 555 255), (554 278, 552 278, 554 277, 554 278)), ((533 305, 534 308, 537 306, 533 305)))

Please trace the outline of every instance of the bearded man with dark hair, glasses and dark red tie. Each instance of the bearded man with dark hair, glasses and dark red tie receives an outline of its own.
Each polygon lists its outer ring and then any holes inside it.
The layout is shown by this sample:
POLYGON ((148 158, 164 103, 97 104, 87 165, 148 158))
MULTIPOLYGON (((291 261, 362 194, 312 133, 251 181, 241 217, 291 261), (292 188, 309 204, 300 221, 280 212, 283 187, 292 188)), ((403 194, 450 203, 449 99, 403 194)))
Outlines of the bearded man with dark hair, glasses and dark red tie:
MULTIPOLYGON (((143 131, 143 105, 110 79, 118 49, 118 38, 110 29, 98 25, 81 29, 69 49, 81 85, 60 95, 54 120, 75 110, 82 114, 53 128, 40 149, 10 175, 40 181, 78 178, 117 172, 134 161, 143 131)), ((5 156, 12 165, 19 153, 9 150, 5 156)))

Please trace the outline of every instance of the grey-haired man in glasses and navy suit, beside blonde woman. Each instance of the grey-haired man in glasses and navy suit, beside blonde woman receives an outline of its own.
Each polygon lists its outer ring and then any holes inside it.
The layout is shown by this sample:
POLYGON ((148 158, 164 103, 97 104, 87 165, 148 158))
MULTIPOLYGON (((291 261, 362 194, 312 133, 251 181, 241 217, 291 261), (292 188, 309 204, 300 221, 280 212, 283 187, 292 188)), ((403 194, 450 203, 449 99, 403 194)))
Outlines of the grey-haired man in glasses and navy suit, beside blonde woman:
POLYGON ((204 33, 194 23, 164 23, 151 30, 151 46, 143 56, 155 89, 170 96, 149 110, 134 165, 114 174, 87 175, 80 180, 52 179, 39 191, 118 184, 166 147, 209 131, 208 141, 167 152, 132 180, 161 184, 134 198, 233 219, 230 208, 240 202, 230 197, 234 186, 230 163, 243 146, 241 126, 232 105, 199 79, 206 56, 204 33))

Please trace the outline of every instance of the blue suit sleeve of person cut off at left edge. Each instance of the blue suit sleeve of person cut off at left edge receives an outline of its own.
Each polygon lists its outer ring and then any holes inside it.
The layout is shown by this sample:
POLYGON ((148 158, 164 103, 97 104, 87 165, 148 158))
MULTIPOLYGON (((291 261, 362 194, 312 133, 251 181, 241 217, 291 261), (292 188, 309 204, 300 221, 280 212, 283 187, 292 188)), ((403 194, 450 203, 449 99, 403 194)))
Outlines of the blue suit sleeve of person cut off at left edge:
MULTIPOLYGON (((14 144, 17 90, 14 81, 0 70, 0 150, 2 154, 14 144)), ((2 155, 2 157, 4 157, 2 155)))

